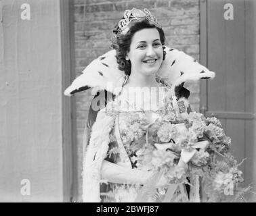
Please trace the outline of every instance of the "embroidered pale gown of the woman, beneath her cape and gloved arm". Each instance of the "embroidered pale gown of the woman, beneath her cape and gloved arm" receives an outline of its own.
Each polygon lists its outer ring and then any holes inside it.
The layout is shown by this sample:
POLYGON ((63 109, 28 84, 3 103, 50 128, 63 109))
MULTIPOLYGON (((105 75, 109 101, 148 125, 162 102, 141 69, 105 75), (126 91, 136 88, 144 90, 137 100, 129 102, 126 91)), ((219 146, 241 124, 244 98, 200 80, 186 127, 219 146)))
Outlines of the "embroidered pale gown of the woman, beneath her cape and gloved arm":
MULTIPOLYGON (((175 115, 172 97, 166 97, 168 88, 164 88, 164 94, 159 100, 160 104, 148 103, 150 109, 142 109, 132 97, 127 100, 124 94, 117 97, 114 102, 106 105, 106 115, 114 115, 114 125, 110 132, 110 143, 105 160, 132 169, 150 170, 150 163, 142 163, 144 145, 146 144, 146 130, 142 126, 151 124, 168 113, 169 117, 175 115)), ((163 93, 162 92, 162 93, 163 93)), ((146 105, 144 104, 144 108, 146 105)), ((179 112, 186 112, 186 105, 178 103, 179 112)), ((167 116, 168 116, 167 115, 167 116)), ((114 184, 108 182, 101 186, 101 198, 103 202, 134 202, 137 195, 143 190, 142 185, 114 184)), ((185 184, 175 185, 175 192, 171 197, 167 196, 168 188, 158 188, 150 196, 147 202, 188 202, 189 187, 185 184)))

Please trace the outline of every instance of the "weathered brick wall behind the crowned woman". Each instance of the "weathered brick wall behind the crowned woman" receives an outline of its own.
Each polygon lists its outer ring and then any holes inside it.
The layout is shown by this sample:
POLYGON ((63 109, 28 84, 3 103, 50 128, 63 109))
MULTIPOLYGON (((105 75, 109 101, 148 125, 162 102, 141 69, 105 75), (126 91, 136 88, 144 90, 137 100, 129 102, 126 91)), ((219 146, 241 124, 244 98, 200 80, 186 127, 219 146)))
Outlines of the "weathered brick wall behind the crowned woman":
MULTIPOLYGON (((199 1, 198 0, 73 0, 75 38, 75 77, 96 57, 110 50, 109 38, 114 24, 125 9, 147 7, 162 24, 166 45, 184 51, 199 60, 199 1)), ((191 92, 192 109, 199 109, 199 82, 185 84, 191 92)), ((75 94, 77 160, 74 172, 74 200, 82 194, 82 136, 91 102, 89 90, 75 94)))

